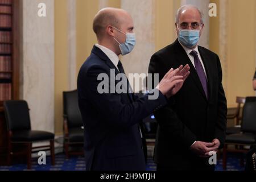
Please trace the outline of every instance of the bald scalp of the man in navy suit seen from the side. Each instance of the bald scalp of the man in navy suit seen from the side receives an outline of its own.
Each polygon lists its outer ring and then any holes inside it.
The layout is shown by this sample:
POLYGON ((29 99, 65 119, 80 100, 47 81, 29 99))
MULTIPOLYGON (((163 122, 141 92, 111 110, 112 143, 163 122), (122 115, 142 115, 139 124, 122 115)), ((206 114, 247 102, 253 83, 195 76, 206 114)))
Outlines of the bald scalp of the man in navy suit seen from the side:
POLYGON ((93 19, 93 31, 97 38, 101 39, 102 36, 104 36, 105 29, 109 25, 114 26, 115 28, 120 28, 123 19, 125 19, 126 16, 130 16, 127 11, 112 7, 107 7, 98 11, 93 19))

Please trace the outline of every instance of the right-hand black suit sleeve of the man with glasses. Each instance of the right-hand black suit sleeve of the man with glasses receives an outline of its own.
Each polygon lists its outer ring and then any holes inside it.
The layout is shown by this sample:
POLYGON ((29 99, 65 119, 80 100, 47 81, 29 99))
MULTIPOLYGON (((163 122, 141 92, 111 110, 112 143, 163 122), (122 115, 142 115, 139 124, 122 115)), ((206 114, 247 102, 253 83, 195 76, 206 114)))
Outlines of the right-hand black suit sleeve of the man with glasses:
MULTIPOLYGON (((216 55, 217 56, 217 55, 216 55)), ((215 134, 214 137, 220 140, 221 145, 220 148, 224 146, 225 137, 226 137, 226 114, 227 114, 227 106, 226 106, 226 96, 222 86, 222 71, 220 59, 217 56, 217 68, 218 68, 218 121, 215 126, 215 134)))

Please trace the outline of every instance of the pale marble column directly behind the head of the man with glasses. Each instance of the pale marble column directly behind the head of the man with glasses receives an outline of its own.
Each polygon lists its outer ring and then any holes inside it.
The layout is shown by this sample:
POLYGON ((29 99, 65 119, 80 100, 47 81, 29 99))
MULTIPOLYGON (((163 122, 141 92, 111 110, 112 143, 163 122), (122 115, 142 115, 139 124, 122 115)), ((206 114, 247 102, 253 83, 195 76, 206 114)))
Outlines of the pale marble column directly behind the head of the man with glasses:
POLYGON ((210 34, 210 19, 209 19, 209 0, 181 0, 181 6, 183 5, 195 5, 204 14, 204 30, 199 40, 199 45, 205 48, 209 48, 209 34, 210 34))

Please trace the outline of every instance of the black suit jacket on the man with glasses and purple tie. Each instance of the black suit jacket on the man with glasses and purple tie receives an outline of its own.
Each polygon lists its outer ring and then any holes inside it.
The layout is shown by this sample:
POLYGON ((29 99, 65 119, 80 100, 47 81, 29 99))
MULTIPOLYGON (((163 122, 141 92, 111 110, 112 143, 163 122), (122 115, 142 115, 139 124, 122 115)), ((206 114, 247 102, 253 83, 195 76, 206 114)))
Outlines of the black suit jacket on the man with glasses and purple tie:
POLYGON ((227 107, 220 60, 208 49, 201 46, 198 49, 207 73, 208 99, 195 67, 178 40, 156 52, 150 60, 148 72, 159 73, 159 80, 170 68, 181 64, 189 64, 191 68, 191 75, 180 91, 170 98, 167 106, 155 112, 159 125, 154 158, 167 168, 183 169, 192 167, 192 163, 204 166, 205 160, 189 150, 193 142, 212 142, 217 138, 222 147, 225 141, 227 107))

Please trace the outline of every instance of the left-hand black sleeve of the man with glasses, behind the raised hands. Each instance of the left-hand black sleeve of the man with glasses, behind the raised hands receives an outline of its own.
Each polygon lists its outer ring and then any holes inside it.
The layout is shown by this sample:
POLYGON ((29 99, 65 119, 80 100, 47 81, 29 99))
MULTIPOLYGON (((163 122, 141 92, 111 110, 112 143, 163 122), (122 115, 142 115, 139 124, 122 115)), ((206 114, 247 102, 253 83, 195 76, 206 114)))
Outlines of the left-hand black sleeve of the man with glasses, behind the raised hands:
MULTIPOLYGON (((161 67, 160 60, 157 55, 151 57, 148 73, 159 73, 159 78, 162 78, 164 68, 161 67)), ((154 112, 155 118, 165 138, 170 138, 171 141, 175 139, 175 142, 189 148, 196 141, 196 136, 177 117, 175 110, 172 108, 174 102, 174 97, 171 97, 166 106, 154 112)))

